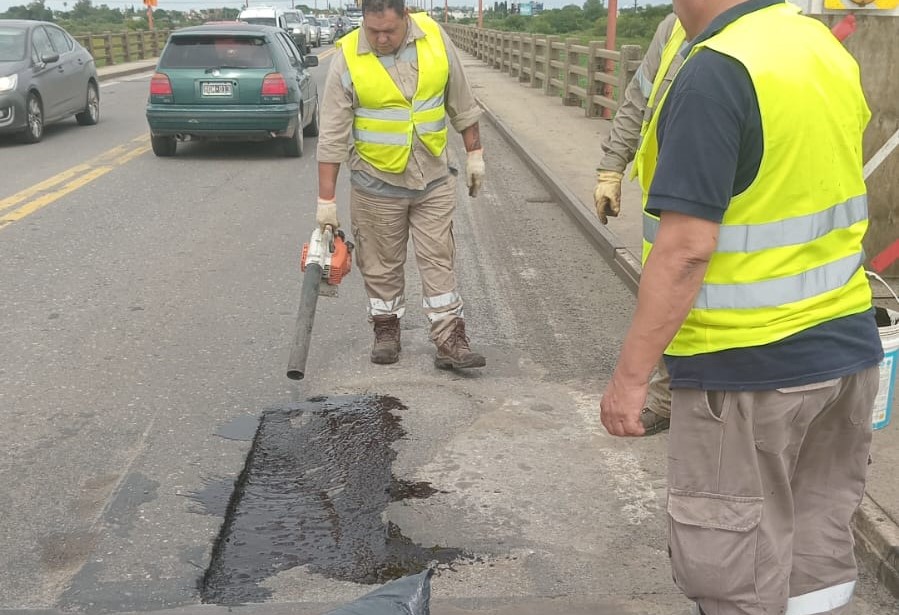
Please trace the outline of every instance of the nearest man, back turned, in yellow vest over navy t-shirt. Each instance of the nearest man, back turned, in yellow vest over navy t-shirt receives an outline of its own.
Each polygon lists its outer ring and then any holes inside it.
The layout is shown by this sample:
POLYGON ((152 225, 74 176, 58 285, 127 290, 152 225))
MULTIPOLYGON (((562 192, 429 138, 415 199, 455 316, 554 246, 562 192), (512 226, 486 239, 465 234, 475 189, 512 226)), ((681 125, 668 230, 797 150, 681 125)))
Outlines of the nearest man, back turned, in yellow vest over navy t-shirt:
POLYGON ((859 68, 782 0, 674 10, 690 43, 637 152, 643 273, 602 424, 643 433, 664 354, 675 582, 705 615, 843 614, 883 357, 859 68))

